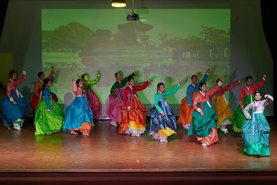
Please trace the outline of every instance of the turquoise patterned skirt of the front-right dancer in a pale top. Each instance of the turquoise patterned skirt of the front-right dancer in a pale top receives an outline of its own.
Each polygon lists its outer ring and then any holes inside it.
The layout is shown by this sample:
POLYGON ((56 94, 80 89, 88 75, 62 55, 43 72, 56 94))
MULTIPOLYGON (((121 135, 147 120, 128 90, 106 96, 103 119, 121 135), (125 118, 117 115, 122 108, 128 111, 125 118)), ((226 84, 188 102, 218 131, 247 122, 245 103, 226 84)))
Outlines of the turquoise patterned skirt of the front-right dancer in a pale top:
POLYGON ((249 155, 269 156, 269 131, 265 114, 253 114, 251 120, 245 121, 242 125, 244 152, 249 155))

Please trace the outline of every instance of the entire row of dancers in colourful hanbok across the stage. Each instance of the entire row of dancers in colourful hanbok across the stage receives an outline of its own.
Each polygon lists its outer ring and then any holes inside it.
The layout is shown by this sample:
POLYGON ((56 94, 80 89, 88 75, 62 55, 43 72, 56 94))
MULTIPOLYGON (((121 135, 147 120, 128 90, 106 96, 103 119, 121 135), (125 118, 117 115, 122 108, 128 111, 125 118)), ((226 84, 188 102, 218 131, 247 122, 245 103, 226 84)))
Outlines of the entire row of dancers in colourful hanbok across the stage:
MULTIPOLYGON (((57 96, 49 89, 55 78, 54 68, 51 68, 51 74, 46 78, 44 73, 38 73, 35 95, 30 101, 35 115, 35 134, 53 134, 60 130, 78 134, 78 130, 84 135, 89 135, 93 117, 100 116, 100 101, 91 89, 91 86, 100 80, 99 71, 95 80, 89 80, 88 74, 82 75, 82 79, 72 79, 75 99, 66 107, 64 114, 57 104, 57 96)), ((20 70, 21 78, 17 78, 15 71, 10 71, 7 94, 1 100, 3 123, 9 129, 13 127, 15 130, 22 130, 28 108, 28 101, 18 89, 18 85, 26 79, 26 71, 20 70)), ((262 76, 262 80, 255 85, 252 85, 253 78, 247 76, 246 84, 240 91, 240 105, 233 114, 224 93, 240 85, 243 80, 222 87, 220 78, 215 87, 207 91, 205 81, 210 71, 207 69, 204 78, 199 82, 196 75, 191 77, 192 82, 186 90, 186 97, 181 100, 178 120, 168 105, 166 96, 175 94, 182 82, 167 90, 162 82, 157 85, 154 106, 150 109, 148 135, 154 140, 168 142, 168 136, 177 134, 179 125, 182 125, 188 130, 188 136, 195 134, 197 141, 206 147, 219 141, 217 128, 228 134, 226 125, 233 123, 235 132, 242 133, 245 152, 249 155, 269 156, 270 127, 263 111, 274 98, 265 94, 265 100, 261 100, 262 93, 256 91, 262 87, 267 76, 262 76)), ((111 125, 118 126, 118 133, 140 136, 145 132, 147 109, 136 92, 147 88, 152 80, 135 86, 134 76, 136 72, 123 79, 120 73, 115 74, 116 82, 111 87, 107 115, 111 118, 111 125)))

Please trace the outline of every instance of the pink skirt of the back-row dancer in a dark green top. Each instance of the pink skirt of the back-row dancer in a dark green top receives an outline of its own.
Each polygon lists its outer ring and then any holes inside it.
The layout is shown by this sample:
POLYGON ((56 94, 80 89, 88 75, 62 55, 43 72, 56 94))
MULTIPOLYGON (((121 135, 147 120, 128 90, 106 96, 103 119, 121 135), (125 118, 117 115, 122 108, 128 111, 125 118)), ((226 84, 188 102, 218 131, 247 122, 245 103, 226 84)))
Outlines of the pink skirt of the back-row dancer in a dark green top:
MULTIPOLYGON (((123 88, 121 88, 120 91, 124 94, 123 88)), ((109 118, 111 118, 111 121, 116 121, 118 123, 121 121, 120 107, 123 105, 123 99, 120 96, 120 91, 116 89, 117 100, 111 94, 109 95, 109 105, 106 112, 109 118)))

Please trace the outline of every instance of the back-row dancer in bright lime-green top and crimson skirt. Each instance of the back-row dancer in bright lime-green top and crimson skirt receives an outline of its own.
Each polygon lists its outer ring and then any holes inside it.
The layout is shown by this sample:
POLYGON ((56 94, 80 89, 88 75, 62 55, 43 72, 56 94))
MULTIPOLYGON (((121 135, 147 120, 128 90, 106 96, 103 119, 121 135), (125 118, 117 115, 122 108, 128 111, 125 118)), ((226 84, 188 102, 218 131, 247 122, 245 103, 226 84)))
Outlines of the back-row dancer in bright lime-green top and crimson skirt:
POLYGON ((82 87, 87 93, 87 102, 89 103, 89 107, 93 112, 93 118, 98 118, 100 116, 100 100, 97 95, 91 89, 91 86, 96 85, 100 80, 100 71, 97 71, 97 77, 94 80, 89 80, 89 75, 84 73, 82 75, 82 80, 84 82, 84 86, 82 87))

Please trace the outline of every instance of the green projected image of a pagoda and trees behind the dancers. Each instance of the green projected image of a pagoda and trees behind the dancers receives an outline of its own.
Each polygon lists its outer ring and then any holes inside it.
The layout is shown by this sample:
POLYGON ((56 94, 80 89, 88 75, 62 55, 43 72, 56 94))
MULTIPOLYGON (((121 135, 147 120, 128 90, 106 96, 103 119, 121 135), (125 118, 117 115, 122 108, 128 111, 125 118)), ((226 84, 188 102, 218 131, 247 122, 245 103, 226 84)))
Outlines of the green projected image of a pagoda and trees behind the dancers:
MULTIPOLYGON (((127 21, 127 9, 43 9, 42 62, 46 75, 55 67, 51 87, 65 103, 72 94, 71 79, 89 73, 90 80, 100 70, 101 78, 93 85, 102 105, 109 102, 114 73, 123 77, 135 70, 136 85, 152 79, 138 95, 144 104, 154 103, 157 84, 171 89, 183 80, 181 89, 168 97, 168 103, 180 104, 186 96, 190 76, 198 80, 212 69, 208 88, 217 78, 224 85, 230 73, 230 9, 151 9, 134 10, 140 21, 127 21), (141 12, 141 13, 140 13, 141 12)), ((66 103, 65 103, 66 104, 66 103)), ((102 110, 102 112, 105 110, 102 110)))

